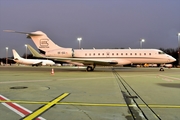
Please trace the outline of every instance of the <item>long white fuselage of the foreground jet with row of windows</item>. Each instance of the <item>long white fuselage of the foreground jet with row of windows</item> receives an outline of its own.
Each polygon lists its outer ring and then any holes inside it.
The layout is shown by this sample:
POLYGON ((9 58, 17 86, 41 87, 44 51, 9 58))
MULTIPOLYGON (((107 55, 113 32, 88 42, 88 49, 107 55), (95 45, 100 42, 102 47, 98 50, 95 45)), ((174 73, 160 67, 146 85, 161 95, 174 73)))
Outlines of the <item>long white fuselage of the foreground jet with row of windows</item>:
POLYGON ((175 59, 158 49, 57 49, 48 56, 84 58, 89 60, 110 60, 124 64, 170 63, 175 59))

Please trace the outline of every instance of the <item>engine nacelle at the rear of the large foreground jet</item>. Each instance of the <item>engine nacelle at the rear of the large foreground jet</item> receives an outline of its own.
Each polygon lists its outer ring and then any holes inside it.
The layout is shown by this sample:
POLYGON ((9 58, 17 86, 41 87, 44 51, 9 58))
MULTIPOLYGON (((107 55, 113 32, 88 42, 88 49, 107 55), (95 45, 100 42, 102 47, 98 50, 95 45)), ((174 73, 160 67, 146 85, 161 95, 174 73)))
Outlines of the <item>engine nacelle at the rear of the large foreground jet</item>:
POLYGON ((60 48, 56 50, 46 51, 47 57, 66 57, 70 58, 74 56, 74 50, 72 48, 60 48))

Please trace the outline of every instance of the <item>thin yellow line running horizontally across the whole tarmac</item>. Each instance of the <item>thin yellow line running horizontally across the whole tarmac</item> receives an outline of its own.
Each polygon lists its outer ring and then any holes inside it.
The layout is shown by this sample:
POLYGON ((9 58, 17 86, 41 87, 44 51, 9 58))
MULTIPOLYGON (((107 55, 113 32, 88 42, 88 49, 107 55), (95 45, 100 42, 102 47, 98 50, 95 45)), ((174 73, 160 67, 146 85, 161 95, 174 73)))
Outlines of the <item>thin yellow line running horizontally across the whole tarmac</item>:
MULTIPOLYGON (((0 100, 0 103, 21 103, 21 104, 48 104, 49 102, 45 101, 17 101, 17 100, 0 100)), ((126 107, 126 104, 123 103, 81 103, 81 102, 58 102, 55 103, 58 105, 78 105, 78 106, 105 106, 105 107, 126 107)), ((133 107, 134 105, 129 105, 133 107)), ((146 107, 146 105, 139 104, 140 107, 146 107)), ((148 104, 152 108, 180 108, 180 105, 172 104, 148 104)))

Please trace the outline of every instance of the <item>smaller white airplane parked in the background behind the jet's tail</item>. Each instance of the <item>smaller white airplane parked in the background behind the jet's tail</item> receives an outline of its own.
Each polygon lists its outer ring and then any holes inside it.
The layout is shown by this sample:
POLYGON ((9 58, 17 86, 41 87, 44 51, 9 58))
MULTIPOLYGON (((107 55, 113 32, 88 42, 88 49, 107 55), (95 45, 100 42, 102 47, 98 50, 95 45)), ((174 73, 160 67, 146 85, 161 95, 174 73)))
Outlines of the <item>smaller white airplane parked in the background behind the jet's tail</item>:
POLYGON ((41 66, 41 65, 54 65, 55 63, 51 60, 38 60, 38 59, 24 59, 19 56, 19 54, 16 52, 16 50, 12 50, 14 61, 18 64, 24 64, 24 65, 32 65, 32 66, 41 66))

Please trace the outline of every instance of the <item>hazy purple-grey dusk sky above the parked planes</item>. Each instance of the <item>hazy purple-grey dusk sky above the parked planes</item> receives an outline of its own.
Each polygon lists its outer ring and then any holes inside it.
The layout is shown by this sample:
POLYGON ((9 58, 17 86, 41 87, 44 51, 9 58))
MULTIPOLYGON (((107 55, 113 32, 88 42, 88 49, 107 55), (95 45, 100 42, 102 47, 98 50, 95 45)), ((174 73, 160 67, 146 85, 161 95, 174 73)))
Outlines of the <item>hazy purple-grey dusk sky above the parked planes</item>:
MULTIPOLYGON (((177 48, 180 0, 0 0, 0 58, 21 56, 25 44, 36 48, 24 32, 43 31, 62 47, 177 48)), ((37 48, 36 48, 37 49, 37 48)))

